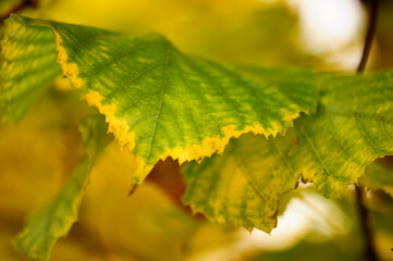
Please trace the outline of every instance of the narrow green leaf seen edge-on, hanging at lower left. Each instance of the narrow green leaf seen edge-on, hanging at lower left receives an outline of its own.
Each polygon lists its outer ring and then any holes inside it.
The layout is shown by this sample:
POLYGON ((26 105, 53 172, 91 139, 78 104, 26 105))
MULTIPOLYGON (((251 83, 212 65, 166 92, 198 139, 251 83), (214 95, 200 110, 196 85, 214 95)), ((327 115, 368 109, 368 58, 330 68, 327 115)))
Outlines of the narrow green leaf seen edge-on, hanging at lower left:
POLYGON ((77 221, 93 163, 112 140, 106 134, 107 124, 101 115, 85 119, 79 130, 87 154, 79 160, 57 198, 34 214, 14 240, 15 248, 29 258, 48 260, 57 239, 65 236, 77 221))

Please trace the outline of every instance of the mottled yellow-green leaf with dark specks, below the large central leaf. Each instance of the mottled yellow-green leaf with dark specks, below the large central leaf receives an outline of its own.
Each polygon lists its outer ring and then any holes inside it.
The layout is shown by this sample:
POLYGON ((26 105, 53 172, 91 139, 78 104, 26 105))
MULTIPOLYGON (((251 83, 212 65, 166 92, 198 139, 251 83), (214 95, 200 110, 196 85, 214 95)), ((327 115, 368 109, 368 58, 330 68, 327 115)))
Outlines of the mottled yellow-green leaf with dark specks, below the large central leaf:
POLYGON ((271 231, 277 224, 279 196, 293 189, 298 179, 278 157, 277 147, 285 141, 283 137, 268 141, 247 134, 232 139, 223 156, 214 154, 201 165, 184 164, 184 202, 213 222, 271 231))

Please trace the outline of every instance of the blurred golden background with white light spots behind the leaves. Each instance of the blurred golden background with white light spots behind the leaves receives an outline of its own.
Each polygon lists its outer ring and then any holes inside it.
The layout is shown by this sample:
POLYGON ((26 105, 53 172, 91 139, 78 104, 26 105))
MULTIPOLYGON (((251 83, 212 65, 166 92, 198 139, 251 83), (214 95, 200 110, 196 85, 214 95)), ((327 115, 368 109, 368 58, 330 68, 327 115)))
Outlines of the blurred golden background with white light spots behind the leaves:
MULTIPOLYGON (((1 0, 0 15, 21 2, 1 0)), ((32 2, 19 13, 130 35, 156 32, 184 52, 220 62, 353 73, 369 1, 32 2)), ((393 1, 382 1, 378 26, 368 71, 393 66, 393 1)), ((84 153, 76 124, 93 113, 59 78, 19 124, 0 126, 0 260, 24 260, 11 239, 61 189, 84 153)), ((382 163, 389 166, 390 161, 382 163)), ((193 214, 182 204, 185 188, 171 159, 159 162, 128 197, 132 171, 130 156, 112 144, 91 173, 78 224, 54 246, 52 260, 359 260, 363 239, 353 188, 328 200, 303 184, 283 197, 278 227, 268 235, 193 214)), ((376 246, 385 260, 393 260, 391 196, 368 192, 376 246)))

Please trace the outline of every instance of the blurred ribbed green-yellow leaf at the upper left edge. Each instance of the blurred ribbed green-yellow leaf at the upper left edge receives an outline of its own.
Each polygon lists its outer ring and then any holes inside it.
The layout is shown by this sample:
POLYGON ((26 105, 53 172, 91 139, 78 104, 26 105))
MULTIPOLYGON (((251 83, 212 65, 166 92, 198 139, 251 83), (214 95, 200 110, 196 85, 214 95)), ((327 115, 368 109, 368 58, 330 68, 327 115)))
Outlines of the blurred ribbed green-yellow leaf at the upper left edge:
POLYGON ((53 41, 53 34, 46 28, 5 21, 0 55, 0 123, 20 120, 61 74, 53 41))

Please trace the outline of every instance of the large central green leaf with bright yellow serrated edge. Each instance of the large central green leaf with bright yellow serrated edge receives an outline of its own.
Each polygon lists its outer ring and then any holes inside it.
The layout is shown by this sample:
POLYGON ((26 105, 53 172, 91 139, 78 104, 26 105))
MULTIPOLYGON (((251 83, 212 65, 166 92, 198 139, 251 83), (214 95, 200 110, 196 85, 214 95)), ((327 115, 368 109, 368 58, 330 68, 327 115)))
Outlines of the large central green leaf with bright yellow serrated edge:
MULTIPOLYGON (((136 186, 159 159, 201 160, 222 152, 231 137, 275 136, 300 112, 310 112, 275 85, 183 54, 158 35, 133 38, 17 15, 8 23, 11 29, 26 24, 53 30, 64 75, 138 159, 136 186)), ((285 70, 280 74, 286 77, 285 70)), ((305 75, 309 83, 293 91, 316 100, 312 74, 305 75)))

